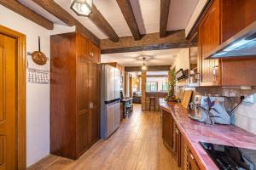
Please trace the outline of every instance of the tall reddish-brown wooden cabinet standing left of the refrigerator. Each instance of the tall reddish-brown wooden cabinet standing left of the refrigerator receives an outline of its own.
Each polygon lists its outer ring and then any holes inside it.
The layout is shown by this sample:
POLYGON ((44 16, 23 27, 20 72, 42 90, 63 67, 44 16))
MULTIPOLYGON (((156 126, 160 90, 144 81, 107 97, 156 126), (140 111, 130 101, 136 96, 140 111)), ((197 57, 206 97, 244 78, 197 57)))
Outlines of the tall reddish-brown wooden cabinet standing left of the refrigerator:
POLYGON ((88 41, 77 32, 50 37, 50 153, 71 159, 99 139, 101 67, 88 41))

